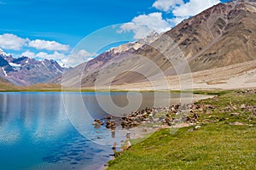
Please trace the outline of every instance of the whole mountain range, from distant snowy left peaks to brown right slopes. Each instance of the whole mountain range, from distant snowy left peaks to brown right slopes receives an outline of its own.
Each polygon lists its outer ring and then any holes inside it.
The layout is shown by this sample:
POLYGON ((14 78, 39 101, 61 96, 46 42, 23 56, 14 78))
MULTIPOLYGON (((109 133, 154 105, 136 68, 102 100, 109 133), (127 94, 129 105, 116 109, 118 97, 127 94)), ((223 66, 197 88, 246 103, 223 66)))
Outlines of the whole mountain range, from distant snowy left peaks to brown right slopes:
MULTIPOLYGON (((152 32, 65 71, 54 60, 15 59, 1 50, 0 77, 8 81, 5 83, 21 86, 48 82, 69 88, 151 82, 177 74, 209 76, 214 69, 222 71, 220 75, 225 79, 233 71, 237 75, 252 73, 255 68, 251 61, 255 59, 256 2, 234 0, 218 3, 170 31, 152 32), (239 69, 235 71, 236 66, 239 69)), ((205 78, 200 76, 200 81, 205 78)))

